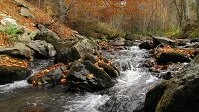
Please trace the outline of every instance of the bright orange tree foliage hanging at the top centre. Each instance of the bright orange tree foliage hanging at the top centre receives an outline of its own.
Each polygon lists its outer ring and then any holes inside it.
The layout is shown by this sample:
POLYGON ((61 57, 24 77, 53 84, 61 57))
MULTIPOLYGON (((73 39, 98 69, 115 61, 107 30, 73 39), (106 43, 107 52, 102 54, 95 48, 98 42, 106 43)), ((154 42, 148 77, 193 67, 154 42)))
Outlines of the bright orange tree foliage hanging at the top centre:
MULTIPOLYGON (((68 2, 70 0, 67 0, 68 2)), ((117 14, 135 14, 141 12, 138 6, 145 0, 126 0, 126 5, 122 5, 122 0, 81 0, 76 2, 71 10, 70 17, 95 17, 102 20, 110 20, 117 14)), ((124 1, 124 0, 123 0, 124 1)))

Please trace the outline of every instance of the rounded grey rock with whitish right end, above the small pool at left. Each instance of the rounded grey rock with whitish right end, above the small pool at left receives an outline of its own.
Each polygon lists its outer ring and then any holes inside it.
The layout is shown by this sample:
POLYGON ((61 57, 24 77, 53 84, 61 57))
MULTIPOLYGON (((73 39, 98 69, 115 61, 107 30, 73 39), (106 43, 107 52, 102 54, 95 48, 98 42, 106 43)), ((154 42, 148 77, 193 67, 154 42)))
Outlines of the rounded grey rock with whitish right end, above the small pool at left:
POLYGON ((37 56, 44 56, 49 58, 55 56, 56 54, 54 47, 45 41, 41 40, 31 41, 28 44, 28 47, 33 49, 37 56))

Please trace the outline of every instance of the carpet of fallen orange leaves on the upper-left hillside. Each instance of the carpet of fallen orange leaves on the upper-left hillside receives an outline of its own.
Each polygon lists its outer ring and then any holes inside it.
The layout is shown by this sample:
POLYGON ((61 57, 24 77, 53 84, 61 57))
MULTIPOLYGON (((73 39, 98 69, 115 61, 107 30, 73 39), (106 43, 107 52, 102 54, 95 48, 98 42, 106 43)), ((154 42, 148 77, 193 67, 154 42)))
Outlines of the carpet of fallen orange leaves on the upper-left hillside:
MULTIPOLYGON (((57 33, 59 37, 63 39, 71 39, 69 38, 72 35, 72 30, 70 28, 59 22, 53 23, 54 20, 48 14, 46 14, 46 12, 33 7, 31 4, 25 2, 24 0, 20 0, 19 2, 28 6, 35 18, 27 18, 21 16, 20 7, 18 7, 13 0, 1 0, 0 11, 13 17, 19 24, 25 26, 30 31, 37 29, 35 24, 49 24, 51 25, 49 29, 57 33)), ((2 17, 0 19, 2 19, 2 17)))

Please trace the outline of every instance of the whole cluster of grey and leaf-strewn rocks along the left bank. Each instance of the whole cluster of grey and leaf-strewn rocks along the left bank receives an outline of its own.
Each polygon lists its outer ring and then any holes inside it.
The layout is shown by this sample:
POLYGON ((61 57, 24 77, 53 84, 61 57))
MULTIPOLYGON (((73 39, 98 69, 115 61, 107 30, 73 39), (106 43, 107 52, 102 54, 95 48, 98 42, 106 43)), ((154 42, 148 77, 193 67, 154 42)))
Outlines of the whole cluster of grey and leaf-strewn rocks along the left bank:
MULTIPOLYGON (((23 6, 20 11, 22 16, 34 18, 28 8, 23 6)), ((3 28, 12 24, 23 32, 10 37, 15 40, 8 46, 2 44, 0 47, 0 84, 27 79, 33 86, 62 84, 68 90, 94 92, 113 86, 119 75, 119 70, 111 61, 98 53, 99 46, 78 32, 73 33, 74 39, 67 39, 42 24, 36 25, 37 30, 29 31, 11 17, 1 23, 3 28), (54 58, 54 65, 32 74, 31 64, 35 58, 54 58)), ((117 40, 112 44, 121 43, 117 40)))

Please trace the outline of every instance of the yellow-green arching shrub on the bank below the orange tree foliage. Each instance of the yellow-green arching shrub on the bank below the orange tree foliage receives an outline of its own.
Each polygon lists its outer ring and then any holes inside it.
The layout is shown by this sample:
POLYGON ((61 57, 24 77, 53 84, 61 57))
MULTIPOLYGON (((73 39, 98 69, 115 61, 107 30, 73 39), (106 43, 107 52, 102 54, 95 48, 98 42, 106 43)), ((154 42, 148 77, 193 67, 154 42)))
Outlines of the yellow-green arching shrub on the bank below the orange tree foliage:
POLYGON ((118 29, 112 27, 105 22, 99 22, 95 20, 73 20, 69 23, 69 26, 74 30, 77 30, 81 35, 92 38, 104 38, 114 39, 116 37, 124 37, 124 33, 118 29))

